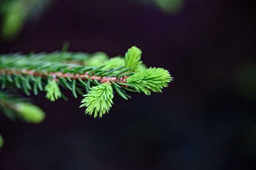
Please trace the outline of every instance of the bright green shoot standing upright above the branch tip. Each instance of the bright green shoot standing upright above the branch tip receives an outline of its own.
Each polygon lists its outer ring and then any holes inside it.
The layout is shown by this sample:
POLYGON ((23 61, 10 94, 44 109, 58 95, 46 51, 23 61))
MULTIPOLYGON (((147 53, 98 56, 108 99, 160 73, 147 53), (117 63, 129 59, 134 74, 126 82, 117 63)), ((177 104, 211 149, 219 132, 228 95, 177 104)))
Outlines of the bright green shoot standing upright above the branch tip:
POLYGON ((133 72, 142 63, 142 61, 140 61, 141 53, 142 53, 141 50, 135 46, 128 49, 128 51, 125 53, 125 57, 124 57, 125 68, 132 68, 128 72, 133 72))

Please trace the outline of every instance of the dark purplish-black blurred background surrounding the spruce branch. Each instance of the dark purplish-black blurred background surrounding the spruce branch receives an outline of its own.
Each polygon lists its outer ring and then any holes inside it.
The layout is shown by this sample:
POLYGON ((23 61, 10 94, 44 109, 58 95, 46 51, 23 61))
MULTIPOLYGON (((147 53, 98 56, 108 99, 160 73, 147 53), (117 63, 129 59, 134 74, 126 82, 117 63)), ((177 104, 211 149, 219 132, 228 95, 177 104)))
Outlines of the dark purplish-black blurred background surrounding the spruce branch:
POLYGON ((70 51, 114 57, 136 45, 145 64, 169 70, 174 81, 163 93, 115 96, 101 119, 84 115, 82 97, 69 91, 69 102, 34 96, 46 112, 42 124, 0 115, 1 170, 255 168, 251 1, 47 0, 33 9, 26 19, 16 11, 22 19, 2 31, 0 53, 52 52, 68 40, 70 51))

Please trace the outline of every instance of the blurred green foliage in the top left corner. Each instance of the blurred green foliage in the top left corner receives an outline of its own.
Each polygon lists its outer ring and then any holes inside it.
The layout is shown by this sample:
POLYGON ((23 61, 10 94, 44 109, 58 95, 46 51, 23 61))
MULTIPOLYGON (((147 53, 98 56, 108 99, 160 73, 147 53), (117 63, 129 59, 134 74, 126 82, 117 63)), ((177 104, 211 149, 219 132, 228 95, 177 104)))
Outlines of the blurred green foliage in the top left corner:
POLYGON ((4 41, 16 38, 26 21, 37 20, 54 0, 1 0, 0 34, 4 41))

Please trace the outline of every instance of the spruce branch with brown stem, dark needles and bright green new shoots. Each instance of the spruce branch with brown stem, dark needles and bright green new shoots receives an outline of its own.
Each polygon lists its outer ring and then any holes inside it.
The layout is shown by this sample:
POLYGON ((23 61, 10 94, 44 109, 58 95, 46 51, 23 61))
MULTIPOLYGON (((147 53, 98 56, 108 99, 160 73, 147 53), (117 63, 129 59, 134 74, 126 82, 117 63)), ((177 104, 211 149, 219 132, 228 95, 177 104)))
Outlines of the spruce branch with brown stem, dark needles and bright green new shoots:
POLYGON ((16 87, 27 96, 44 91, 46 98, 54 102, 65 98, 60 92, 62 86, 75 98, 77 94, 84 96, 80 107, 86 107, 86 114, 102 117, 112 106, 114 93, 128 100, 131 96, 126 91, 150 95, 151 91, 162 92, 172 80, 168 70, 146 68, 140 61, 141 54, 133 46, 125 57, 112 58, 102 52, 67 51, 0 55, 1 89, 16 87))

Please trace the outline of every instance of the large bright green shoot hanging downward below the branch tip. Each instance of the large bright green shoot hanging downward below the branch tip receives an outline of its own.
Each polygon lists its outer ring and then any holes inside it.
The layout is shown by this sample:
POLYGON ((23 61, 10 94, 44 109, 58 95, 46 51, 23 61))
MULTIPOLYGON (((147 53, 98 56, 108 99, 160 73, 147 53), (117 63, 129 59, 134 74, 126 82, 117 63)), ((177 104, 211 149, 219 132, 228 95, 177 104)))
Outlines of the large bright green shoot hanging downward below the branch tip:
POLYGON ((102 117, 106 112, 109 111, 113 101, 113 89, 110 83, 103 83, 98 86, 94 86, 90 88, 88 94, 84 95, 84 99, 82 100, 82 104, 80 107, 87 107, 85 114, 92 115, 94 112, 94 118, 97 117, 98 112, 99 117, 102 117))

